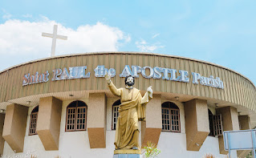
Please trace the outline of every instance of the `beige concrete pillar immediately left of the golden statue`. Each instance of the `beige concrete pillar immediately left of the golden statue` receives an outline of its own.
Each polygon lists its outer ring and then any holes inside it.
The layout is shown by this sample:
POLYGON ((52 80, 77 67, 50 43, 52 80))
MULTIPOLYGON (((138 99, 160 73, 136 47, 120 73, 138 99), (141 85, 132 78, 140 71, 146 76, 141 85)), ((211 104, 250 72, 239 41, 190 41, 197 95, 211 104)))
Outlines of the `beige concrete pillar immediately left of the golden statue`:
POLYGON ((107 103, 104 93, 90 93, 87 130, 90 148, 106 148, 107 103))

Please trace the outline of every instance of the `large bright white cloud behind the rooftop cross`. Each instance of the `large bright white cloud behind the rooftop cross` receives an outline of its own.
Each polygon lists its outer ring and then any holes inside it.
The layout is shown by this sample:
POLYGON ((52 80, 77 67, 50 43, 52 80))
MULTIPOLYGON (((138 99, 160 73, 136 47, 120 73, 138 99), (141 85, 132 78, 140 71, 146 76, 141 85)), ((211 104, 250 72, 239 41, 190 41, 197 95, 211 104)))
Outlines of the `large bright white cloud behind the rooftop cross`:
MULTIPOLYGON (((40 22, 8 20, 0 25, 0 55, 44 55, 51 53, 51 38, 41 34, 52 34, 55 21, 44 18, 40 22)), ((117 27, 97 22, 95 25, 79 26, 77 30, 58 23, 58 34, 67 35, 67 41, 57 39, 56 55, 87 51, 117 51, 118 43, 131 40, 117 27)))

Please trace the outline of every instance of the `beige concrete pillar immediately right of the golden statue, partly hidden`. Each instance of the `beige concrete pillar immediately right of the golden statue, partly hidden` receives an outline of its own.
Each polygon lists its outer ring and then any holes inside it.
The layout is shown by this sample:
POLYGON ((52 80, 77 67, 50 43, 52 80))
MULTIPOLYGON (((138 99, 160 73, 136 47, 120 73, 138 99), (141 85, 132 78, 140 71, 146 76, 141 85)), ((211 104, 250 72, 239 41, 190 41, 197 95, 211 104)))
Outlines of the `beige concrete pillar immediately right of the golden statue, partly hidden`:
POLYGON ((161 95, 153 95, 146 105, 146 121, 141 123, 141 144, 147 145, 150 141, 158 144, 162 130, 161 95))

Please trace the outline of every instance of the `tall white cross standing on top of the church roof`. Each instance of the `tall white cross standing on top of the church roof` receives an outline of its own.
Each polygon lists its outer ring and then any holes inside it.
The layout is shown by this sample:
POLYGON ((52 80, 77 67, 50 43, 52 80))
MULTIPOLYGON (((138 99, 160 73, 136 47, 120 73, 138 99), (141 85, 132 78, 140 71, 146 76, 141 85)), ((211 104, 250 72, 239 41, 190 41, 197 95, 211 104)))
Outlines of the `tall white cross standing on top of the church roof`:
POLYGON ((56 39, 58 38, 58 39, 67 40, 67 36, 57 34, 57 29, 58 29, 58 25, 55 25, 54 28, 53 28, 53 34, 42 33, 43 37, 52 38, 51 56, 55 56, 56 39))

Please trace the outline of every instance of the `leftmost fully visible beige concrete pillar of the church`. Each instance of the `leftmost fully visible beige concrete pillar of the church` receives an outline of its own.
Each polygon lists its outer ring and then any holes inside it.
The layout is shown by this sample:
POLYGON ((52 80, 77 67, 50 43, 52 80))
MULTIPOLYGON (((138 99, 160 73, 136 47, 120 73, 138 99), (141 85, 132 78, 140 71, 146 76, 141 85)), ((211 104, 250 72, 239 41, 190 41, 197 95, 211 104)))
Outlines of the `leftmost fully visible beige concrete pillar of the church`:
POLYGON ((16 103, 6 107, 2 137, 16 152, 23 152, 27 111, 28 107, 16 103))

